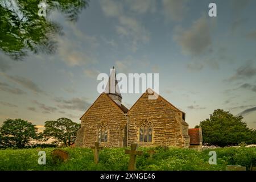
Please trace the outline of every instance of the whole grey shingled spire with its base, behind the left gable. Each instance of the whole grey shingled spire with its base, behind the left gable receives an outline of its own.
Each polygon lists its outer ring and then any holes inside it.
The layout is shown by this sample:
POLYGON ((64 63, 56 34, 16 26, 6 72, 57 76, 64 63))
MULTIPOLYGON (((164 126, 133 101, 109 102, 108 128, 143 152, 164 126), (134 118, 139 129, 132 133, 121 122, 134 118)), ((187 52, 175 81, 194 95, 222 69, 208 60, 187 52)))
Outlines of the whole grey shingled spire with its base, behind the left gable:
POLYGON ((109 97, 112 98, 113 101, 115 101, 115 103, 121 106, 122 96, 119 90, 117 77, 115 75, 115 68, 113 67, 112 69, 110 69, 109 81, 106 85, 105 93, 108 94, 109 97))

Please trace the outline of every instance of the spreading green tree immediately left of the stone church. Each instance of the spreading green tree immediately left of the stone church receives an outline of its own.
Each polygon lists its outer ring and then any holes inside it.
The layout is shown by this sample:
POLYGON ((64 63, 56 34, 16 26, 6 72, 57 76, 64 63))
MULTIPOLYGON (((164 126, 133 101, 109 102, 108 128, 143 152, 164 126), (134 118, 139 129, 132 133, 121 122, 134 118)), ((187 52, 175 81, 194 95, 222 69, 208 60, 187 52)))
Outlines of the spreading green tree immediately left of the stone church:
POLYGON ((52 137, 58 142, 63 142, 65 146, 70 146, 75 142, 80 126, 79 123, 72 122, 71 119, 59 118, 57 121, 46 121, 43 134, 47 139, 52 137))

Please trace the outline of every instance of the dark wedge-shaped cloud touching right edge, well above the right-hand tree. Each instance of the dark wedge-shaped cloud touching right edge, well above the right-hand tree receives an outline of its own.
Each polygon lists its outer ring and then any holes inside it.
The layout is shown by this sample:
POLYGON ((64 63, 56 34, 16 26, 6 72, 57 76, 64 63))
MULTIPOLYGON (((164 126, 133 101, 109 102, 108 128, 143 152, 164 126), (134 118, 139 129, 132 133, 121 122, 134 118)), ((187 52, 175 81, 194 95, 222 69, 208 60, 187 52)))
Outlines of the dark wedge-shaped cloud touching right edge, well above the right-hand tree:
POLYGON ((228 81, 247 79, 256 76, 256 67, 253 61, 246 61, 245 64, 237 68, 236 73, 228 78, 228 81))

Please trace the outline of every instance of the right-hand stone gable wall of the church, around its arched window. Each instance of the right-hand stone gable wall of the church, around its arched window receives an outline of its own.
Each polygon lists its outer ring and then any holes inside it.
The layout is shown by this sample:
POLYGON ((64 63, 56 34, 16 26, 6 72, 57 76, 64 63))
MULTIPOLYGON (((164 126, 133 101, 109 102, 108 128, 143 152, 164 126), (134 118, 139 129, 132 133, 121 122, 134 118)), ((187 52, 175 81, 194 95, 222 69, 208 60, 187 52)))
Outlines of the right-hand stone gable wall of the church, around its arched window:
POLYGON ((140 146, 161 145, 188 148, 188 126, 183 126, 182 114, 164 98, 159 96, 156 100, 148 100, 148 93, 144 93, 127 113, 129 117, 128 144, 137 142, 140 146), (139 126, 144 119, 152 122, 152 142, 139 142, 139 126))

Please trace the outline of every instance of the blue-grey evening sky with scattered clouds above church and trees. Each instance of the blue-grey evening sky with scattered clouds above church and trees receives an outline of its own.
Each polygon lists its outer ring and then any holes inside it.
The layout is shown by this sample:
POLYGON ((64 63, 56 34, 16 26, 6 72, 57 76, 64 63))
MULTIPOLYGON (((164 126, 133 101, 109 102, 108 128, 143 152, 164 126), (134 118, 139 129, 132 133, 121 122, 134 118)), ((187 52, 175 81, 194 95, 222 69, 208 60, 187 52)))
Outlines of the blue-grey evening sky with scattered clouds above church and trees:
MULTIPOLYGON (((100 95, 99 73, 159 73, 159 94, 189 127, 224 109, 256 129, 256 1, 93 0, 63 27, 57 52, 14 61, 0 52, 0 124, 80 117, 100 95), (217 5, 217 16, 208 5, 217 5)), ((144 92, 144 90, 143 90, 144 92)), ((141 94, 122 94, 130 108, 141 94)))

